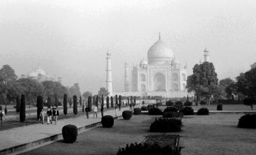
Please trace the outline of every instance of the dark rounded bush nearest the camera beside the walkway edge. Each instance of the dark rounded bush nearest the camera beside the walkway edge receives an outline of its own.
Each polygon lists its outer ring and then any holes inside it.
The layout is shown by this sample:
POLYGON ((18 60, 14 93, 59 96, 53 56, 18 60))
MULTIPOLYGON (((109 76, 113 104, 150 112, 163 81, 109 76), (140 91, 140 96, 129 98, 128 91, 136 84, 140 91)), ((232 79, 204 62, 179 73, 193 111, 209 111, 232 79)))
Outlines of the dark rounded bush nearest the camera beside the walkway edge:
POLYGON ((74 143, 77 138, 77 127, 68 124, 62 128, 62 136, 65 143, 74 143))

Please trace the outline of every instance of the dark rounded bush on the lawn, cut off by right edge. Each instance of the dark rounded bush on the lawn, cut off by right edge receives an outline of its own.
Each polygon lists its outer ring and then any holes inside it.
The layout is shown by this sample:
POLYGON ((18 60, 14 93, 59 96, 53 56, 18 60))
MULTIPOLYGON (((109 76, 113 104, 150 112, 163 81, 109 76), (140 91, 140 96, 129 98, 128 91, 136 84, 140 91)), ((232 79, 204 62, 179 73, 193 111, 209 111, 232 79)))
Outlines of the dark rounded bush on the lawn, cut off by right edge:
POLYGON ((256 114, 243 115, 237 124, 238 128, 256 128, 256 114))

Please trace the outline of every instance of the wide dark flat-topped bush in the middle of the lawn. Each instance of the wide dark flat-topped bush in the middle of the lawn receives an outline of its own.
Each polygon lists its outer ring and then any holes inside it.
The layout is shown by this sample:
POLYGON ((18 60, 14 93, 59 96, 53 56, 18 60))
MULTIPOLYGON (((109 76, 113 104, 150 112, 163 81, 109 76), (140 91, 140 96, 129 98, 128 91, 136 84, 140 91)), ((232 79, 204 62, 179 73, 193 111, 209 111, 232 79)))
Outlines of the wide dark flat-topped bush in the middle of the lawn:
POLYGON ((150 125, 150 132, 179 132, 181 126, 181 119, 159 118, 150 125))

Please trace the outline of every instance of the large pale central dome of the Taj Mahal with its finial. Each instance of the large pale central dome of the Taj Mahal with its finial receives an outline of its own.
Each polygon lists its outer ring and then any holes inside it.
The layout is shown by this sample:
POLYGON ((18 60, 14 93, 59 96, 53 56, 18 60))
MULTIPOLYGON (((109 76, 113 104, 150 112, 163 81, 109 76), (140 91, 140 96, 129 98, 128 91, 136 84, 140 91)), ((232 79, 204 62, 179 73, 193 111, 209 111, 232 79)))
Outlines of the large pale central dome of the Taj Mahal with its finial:
POLYGON ((164 64, 172 59, 172 49, 159 36, 159 40, 148 50, 148 64, 164 64))

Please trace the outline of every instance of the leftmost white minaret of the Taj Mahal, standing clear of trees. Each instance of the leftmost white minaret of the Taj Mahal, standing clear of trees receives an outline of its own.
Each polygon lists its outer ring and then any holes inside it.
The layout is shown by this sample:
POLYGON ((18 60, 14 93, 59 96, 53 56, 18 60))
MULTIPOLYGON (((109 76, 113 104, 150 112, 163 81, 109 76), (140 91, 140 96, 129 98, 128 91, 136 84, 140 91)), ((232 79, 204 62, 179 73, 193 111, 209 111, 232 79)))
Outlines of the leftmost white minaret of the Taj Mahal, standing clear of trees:
POLYGON ((107 68, 106 68, 106 89, 108 89, 109 96, 112 96, 112 66, 111 66, 111 52, 107 52, 107 68))

